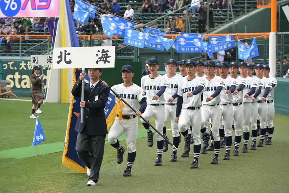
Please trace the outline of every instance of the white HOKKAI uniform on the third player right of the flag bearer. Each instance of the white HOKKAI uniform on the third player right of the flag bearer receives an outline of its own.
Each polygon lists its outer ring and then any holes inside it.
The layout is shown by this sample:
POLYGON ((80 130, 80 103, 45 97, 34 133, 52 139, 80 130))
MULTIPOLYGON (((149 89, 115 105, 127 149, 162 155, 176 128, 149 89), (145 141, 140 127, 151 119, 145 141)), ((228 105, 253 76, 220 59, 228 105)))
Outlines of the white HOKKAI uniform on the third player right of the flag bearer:
MULTIPOLYGON (((187 93, 194 91, 198 86, 205 87, 204 79, 201 77, 195 77, 193 80, 188 81, 184 78, 179 83, 178 97, 183 97, 182 111, 179 116, 179 131, 185 132, 187 125, 192 124, 192 138, 194 139, 194 144, 201 144, 200 140, 200 130, 201 130, 201 110, 202 105, 201 94, 193 95, 192 97, 187 97, 187 93), (196 109, 190 110, 188 107, 195 107, 196 109)), ((189 130, 189 129, 188 129, 189 130)))

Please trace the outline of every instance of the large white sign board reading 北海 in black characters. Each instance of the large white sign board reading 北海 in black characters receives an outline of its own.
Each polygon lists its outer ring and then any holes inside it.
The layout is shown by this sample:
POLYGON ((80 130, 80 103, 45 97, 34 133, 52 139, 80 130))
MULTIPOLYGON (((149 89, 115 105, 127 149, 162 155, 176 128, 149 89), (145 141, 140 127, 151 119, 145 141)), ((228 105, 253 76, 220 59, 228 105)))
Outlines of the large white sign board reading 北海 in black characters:
POLYGON ((54 48, 52 68, 114 68, 115 47, 54 48))

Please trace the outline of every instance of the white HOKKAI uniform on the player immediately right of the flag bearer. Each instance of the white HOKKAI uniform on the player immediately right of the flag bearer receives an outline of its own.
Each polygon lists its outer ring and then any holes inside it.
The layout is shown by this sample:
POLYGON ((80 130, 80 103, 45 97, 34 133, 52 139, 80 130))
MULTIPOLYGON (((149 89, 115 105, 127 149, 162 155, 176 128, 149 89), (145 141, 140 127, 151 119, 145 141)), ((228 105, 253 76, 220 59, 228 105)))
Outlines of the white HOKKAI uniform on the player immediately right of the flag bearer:
MULTIPOLYGON (((144 76, 141 78, 141 88, 145 91, 147 96, 147 107, 142 116, 148 121, 150 117, 155 118, 156 129, 163 134, 163 127, 165 124, 165 97, 162 94, 157 100, 152 100, 153 96, 160 91, 161 86, 163 86, 164 78, 158 75, 156 78, 151 78, 150 76, 144 76)), ((140 120, 145 123, 144 120, 140 120)), ((163 140, 163 138, 156 133, 157 141, 163 140)))

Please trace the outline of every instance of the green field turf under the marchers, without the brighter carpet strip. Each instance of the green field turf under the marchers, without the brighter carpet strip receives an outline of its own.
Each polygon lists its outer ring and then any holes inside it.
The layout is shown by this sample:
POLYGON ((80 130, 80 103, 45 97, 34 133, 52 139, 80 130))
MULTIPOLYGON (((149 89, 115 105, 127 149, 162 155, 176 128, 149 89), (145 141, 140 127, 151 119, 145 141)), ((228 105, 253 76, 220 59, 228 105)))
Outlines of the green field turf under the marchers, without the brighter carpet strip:
MULTIPOLYGON (((0 151, 27 147, 32 143, 35 120, 29 119, 31 102, 0 100, 0 151)), ((64 141, 68 104, 45 103, 41 106, 41 125, 45 143, 64 141)), ((153 123, 153 119, 150 119, 153 123)), ((289 151, 288 116, 275 114, 271 146, 258 148, 231 160, 211 165, 213 151, 200 155, 199 168, 189 169, 193 159, 181 158, 183 138, 179 144, 178 161, 170 162, 172 147, 163 153, 162 166, 154 166, 157 148, 148 147, 146 138, 138 138, 132 177, 122 177, 127 151, 122 164, 116 163, 116 150, 105 145, 99 182, 87 187, 85 173, 74 173, 62 165, 62 152, 25 159, 0 158, 0 192, 288 192, 289 151)), ((142 125, 139 121, 139 128, 142 125)), ((167 128, 170 123, 167 121, 167 128)), ((172 139, 171 131, 168 131, 172 139)), ((249 144, 251 143, 251 138, 249 144)), ((259 141, 259 138, 258 138, 259 141)), ((125 141, 120 142, 125 147, 125 141)), ((250 146, 250 145, 249 145, 250 146)), ((242 145, 241 145, 242 147, 242 145)), ((233 148, 233 147, 232 147, 233 148)), ((193 146, 191 146, 193 149, 193 146)))

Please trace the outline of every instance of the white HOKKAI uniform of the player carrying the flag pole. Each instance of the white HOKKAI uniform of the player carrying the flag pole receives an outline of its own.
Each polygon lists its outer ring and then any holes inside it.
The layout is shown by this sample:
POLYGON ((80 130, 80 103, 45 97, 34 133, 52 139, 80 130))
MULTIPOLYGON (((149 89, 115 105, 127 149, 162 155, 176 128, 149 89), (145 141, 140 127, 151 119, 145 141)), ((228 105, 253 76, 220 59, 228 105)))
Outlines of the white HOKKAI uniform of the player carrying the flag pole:
MULTIPOLYGON (((139 102, 141 99, 146 98, 145 92, 136 84, 125 87, 122 83, 112 86, 111 89, 114 90, 120 97, 123 97, 123 99, 134 109, 139 109, 139 102)), ((108 142, 110 144, 117 143, 117 138, 119 138, 125 132, 127 136, 127 151, 128 153, 132 153, 136 151, 138 117, 136 116, 133 118, 136 113, 127 105, 125 107, 122 107, 121 105, 121 110, 123 115, 131 116, 131 119, 119 120, 119 118, 116 117, 114 124, 111 126, 108 133, 108 142)))

